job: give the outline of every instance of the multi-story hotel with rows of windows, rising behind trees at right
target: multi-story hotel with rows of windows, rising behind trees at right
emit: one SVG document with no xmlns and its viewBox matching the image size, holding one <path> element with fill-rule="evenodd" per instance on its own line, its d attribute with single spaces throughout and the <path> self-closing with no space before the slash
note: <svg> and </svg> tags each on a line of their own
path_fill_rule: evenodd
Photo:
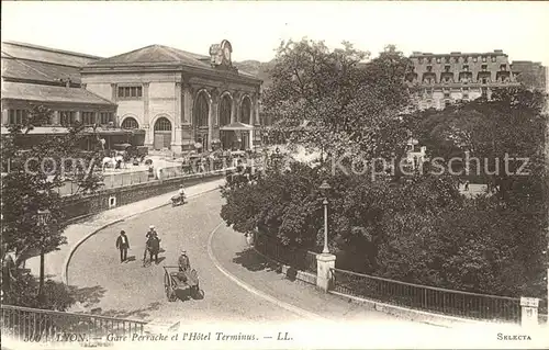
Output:
<svg viewBox="0 0 549 350">
<path fill-rule="evenodd" d="M 459 100 L 490 98 L 491 90 L 518 86 L 508 57 L 493 53 L 430 54 L 414 52 L 406 82 L 416 88 L 414 99 L 421 110 L 445 106 Z"/>
</svg>

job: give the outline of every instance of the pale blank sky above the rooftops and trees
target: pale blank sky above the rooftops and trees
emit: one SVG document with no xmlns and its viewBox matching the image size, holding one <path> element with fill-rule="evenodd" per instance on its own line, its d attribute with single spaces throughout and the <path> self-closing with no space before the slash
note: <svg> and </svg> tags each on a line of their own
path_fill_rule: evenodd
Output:
<svg viewBox="0 0 549 350">
<path fill-rule="evenodd" d="M 549 2 L 2 1 L 2 41 L 110 57 L 160 44 L 209 55 L 228 39 L 233 60 L 274 57 L 282 39 L 373 55 L 388 44 L 446 54 L 503 49 L 549 66 Z"/>
</svg>

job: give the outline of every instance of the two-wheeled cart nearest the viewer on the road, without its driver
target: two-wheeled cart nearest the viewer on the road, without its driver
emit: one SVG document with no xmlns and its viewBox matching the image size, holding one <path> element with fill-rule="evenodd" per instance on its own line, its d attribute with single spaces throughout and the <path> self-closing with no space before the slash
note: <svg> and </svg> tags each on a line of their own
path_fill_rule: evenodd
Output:
<svg viewBox="0 0 549 350">
<path fill-rule="evenodd" d="M 169 302 L 178 300 L 178 292 L 186 293 L 192 298 L 200 297 L 197 270 L 192 269 L 181 272 L 179 271 L 179 267 L 164 267 L 164 290 Z"/>
</svg>

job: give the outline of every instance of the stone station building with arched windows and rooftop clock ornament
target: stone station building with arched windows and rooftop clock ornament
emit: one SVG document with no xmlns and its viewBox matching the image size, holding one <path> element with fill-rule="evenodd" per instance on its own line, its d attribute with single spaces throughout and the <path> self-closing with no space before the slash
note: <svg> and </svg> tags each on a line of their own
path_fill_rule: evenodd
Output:
<svg viewBox="0 0 549 350">
<path fill-rule="evenodd" d="M 229 42 L 209 55 L 150 45 L 87 63 L 87 91 L 117 105 L 122 128 L 143 129 L 153 149 L 249 149 L 260 143 L 261 80 L 232 63 Z"/>
</svg>

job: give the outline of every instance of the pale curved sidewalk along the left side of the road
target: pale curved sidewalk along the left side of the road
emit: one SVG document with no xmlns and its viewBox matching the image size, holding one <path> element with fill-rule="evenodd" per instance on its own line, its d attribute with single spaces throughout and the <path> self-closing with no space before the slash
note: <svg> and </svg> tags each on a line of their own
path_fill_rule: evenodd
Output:
<svg viewBox="0 0 549 350">
<path fill-rule="evenodd" d="M 225 179 L 209 181 L 188 187 L 186 189 L 187 197 L 192 197 L 201 193 L 213 191 L 225 183 Z M 170 203 L 171 196 L 178 192 L 170 192 L 148 200 L 143 200 L 132 204 L 115 207 L 110 211 L 90 216 L 82 222 L 69 225 L 64 236 L 67 237 L 67 244 L 59 247 L 59 250 L 52 251 L 45 256 L 44 271 L 46 278 L 58 282 L 66 282 L 66 267 L 74 250 L 96 232 L 115 224 L 117 222 L 138 215 Z M 40 256 L 26 260 L 25 268 L 31 270 L 34 275 L 40 275 Z"/>
</svg>

